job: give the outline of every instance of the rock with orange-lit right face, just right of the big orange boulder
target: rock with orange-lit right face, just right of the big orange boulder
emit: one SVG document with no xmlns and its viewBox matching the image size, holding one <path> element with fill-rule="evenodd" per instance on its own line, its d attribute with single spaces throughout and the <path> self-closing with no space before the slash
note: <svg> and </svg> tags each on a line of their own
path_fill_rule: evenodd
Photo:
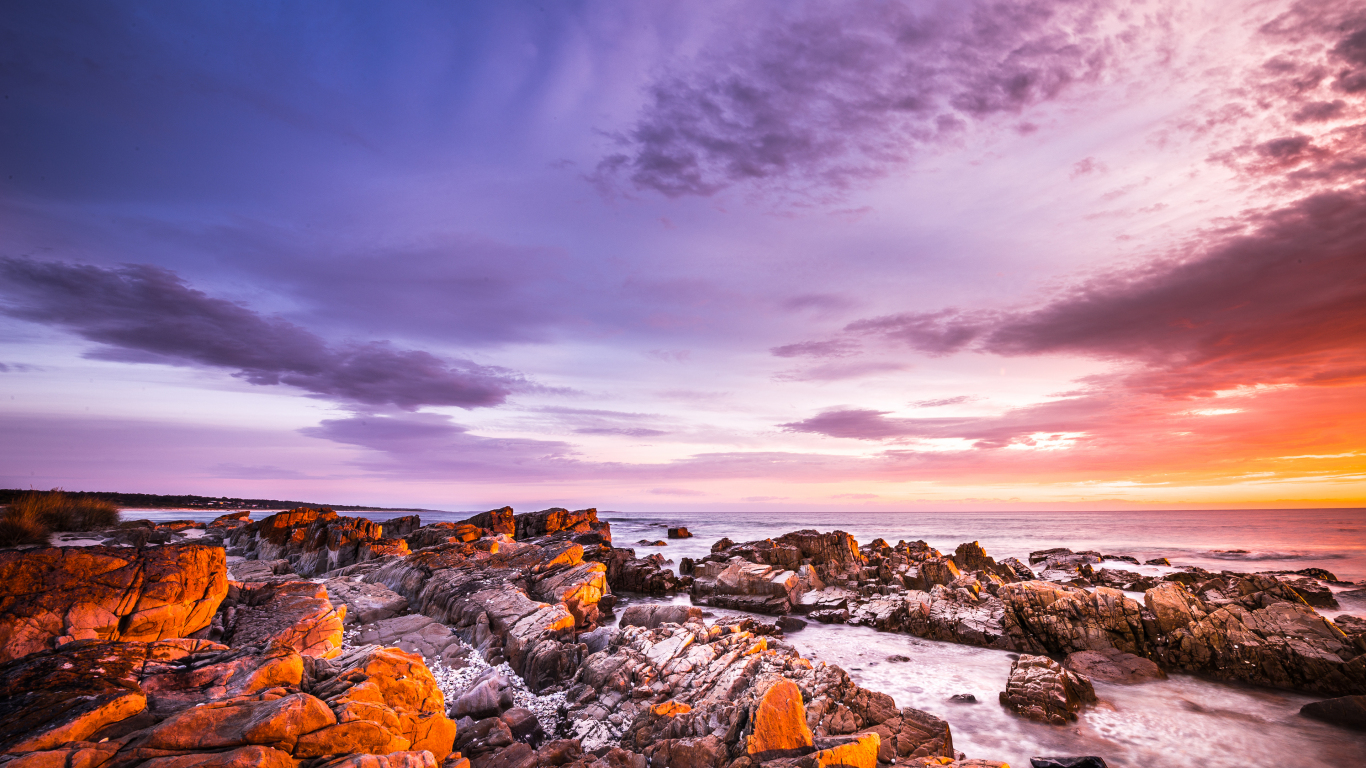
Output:
<svg viewBox="0 0 1366 768">
<path fill-rule="evenodd" d="M 342 652 L 346 605 L 333 607 L 321 584 L 292 581 L 232 592 L 224 620 L 227 645 L 277 642 L 302 656 L 324 659 Z"/>
</svg>

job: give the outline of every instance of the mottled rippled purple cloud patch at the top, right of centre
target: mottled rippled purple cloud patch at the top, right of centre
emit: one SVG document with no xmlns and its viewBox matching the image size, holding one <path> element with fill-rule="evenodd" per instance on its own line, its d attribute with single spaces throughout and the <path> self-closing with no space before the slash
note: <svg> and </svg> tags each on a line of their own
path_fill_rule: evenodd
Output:
<svg viewBox="0 0 1366 768">
<path fill-rule="evenodd" d="M 624 176 L 672 197 L 753 180 L 839 189 L 881 176 L 970 120 L 1018 115 L 1109 72 L 1147 23 L 1112 8 L 799 4 L 746 19 L 735 25 L 743 41 L 716 44 L 656 79 L 598 179 Z"/>
</svg>

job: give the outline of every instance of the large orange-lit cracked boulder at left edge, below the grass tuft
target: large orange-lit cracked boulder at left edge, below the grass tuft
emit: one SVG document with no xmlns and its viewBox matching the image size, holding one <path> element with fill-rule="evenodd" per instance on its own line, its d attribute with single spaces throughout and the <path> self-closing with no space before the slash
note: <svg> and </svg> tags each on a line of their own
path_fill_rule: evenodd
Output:
<svg viewBox="0 0 1366 768">
<path fill-rule="evenodd" d="M 223 549 L 201 544 L 3 551 L 0 582 L 0 661 L 74 640 L 186 637 L 228 592 Z"/>
</svg>

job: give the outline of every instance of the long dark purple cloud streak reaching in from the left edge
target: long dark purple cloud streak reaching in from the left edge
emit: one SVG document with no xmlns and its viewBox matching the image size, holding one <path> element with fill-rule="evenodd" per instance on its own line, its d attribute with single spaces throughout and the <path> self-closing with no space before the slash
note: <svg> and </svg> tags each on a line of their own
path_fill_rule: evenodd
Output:
<svg viewBox="0 0 1366 768">
<path fill-rule="evenodd" d="M 150 265 L 101 268 L 0 258 L 0 312 L 101 344 L 89 357 L 201 365 L 251 384 L 287 384 L 359 406 L 496 406 L 527 383 L 388 342 L 332 346 L 280 317 L 191 288 Z"/>
</svg>

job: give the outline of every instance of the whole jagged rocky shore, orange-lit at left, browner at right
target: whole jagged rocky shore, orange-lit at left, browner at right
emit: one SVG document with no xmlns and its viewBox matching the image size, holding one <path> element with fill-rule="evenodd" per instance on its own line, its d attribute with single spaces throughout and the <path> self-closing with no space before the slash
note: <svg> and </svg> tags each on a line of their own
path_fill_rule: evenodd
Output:
<svg viewBox="0 0 1366 768">
<path fill-rule="evenodd" d="M 1045 723 L 1091 705 L 1091 679 L 1168 671 L 1330 697 L 1306 715 L 1348 727 L 1366 694 L 1366 620 L 1315 611 L 1328 573 L 1156 578 L 1098 552 L 814 530 L 721 540 L 675 573 L 561 508 L 81 536 L 0 551 L 10 768 L 1004 765 L 802 657 L 784 631 L 807 620 L 1016 652 L 1000 705 Z M 617 622 L 631 593 L 694 605 Z"/>
</svg>

